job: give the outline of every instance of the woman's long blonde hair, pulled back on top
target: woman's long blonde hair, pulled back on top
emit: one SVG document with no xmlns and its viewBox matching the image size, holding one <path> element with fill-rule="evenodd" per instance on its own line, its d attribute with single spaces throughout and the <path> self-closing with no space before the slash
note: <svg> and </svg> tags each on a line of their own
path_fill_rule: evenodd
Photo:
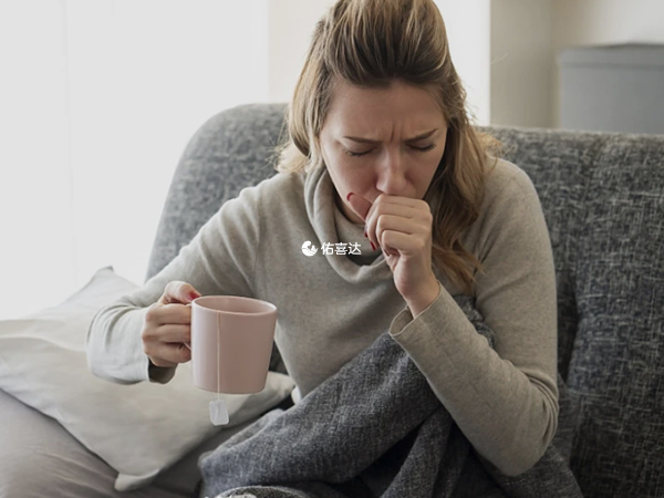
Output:
<svg viewBox="0 0 664 498">
<path fill-rule="evenodd" d="M 287 141 L 277 147 L 280 173 L 325 167 L 320 133 L 335 79 L 361 87 L 394 81 L 424 89 L 447 122 L 443 158 L 424 196 L 432 209 L 432 264 L 465 294 L 471 268 L 484 264 L 459 238 L 478 217 L 486 165 L 501 144 L 470 125 L 466 92 L 449 55 L 443 17 L 433 0 L 339 0 L 317 23 L 307 60 L 286 108 Z"/>
</svg>

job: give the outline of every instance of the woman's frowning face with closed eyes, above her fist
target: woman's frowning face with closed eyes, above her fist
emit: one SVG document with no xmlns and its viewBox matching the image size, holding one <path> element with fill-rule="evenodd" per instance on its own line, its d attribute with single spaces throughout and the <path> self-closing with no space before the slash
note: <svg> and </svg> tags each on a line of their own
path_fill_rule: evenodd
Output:
<svg viewBox="0 0 664 498">
<path fill-rule="evenodd" d="M 339 207 L 362 224 L 349 193 L 423 199 L 443 158 L 447 124 L 435 100 L 402 82 L 360 89 L 338 80 L 321 131 L 323 160 Z"/>
</svg>

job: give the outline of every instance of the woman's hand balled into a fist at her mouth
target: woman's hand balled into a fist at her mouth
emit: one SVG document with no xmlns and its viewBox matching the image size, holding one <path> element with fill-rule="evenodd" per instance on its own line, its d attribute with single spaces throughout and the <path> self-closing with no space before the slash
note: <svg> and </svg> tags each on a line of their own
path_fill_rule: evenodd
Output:
<svg viewBox="0 0 664 498">
<path fill-rule="evenodd" d="M 435 299 L 439 288 L 432 269 L 429 205 L 425 200 L 386 194 L 381 194 L 373 204 L 352 193 L 347 200 L 364 220 L 369 239 L 383 249 L 396 290 L 403 298 L 407 302 L 432 295 Z"/>
</svg>

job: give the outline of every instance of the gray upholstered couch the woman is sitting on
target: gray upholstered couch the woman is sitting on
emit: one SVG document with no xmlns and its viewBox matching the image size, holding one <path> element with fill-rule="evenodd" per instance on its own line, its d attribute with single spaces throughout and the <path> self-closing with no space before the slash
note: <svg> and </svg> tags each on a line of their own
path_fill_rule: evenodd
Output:
<svg viewBox="0 0 664 498">
<path fill-rule="evenodd" d="M 214 115 L 196 132 L 175 170 L 146 279 L 224 201 L 276 174 L 272 147 L 286 133 L 284 108 L 238 106 Z M 549 227 L 558 284 L 558 365 L 580 417 L 570 465 L 584 496 L 664 497 L 664 136 L 483 131 L 502 141 L 506 158 L 530 176 Z M 287 373 L 276 349 L 270 370 Z M 70 437 L 53 421 L 2 394 L 0 426 L 6 430 L 14 424 L 30 433 L 33 424 L 45 446 L 50 434 Z M 65 443 L 91 458 L 75 442 Z M 176 496 L 154 487 L 177 483 L 184 468 L 190 475 L 196 456 L 214 445 L 206 442 L 155 485 L 124 496 Z M 72 465 L 81 455 L 72 457 Z M 95 461 L 100 479 L 107 479 L 112 471 L 103 465 Z M 50 496 L 59 496 L 58 476 L 50 478 Z"/>
</svg>

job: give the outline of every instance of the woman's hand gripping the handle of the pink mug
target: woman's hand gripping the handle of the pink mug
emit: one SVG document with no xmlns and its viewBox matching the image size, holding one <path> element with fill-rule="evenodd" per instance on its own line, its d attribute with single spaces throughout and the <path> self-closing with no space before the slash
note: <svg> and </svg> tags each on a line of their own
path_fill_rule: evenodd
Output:
<svg viewBox="0 0 664 498">
<path fill-rule="evenodd" d="M 176 366 L 191 360 L 191 301 L 200 293 L 187 282 L 168 282 L 145 313 L 143 351 L 155 366 Z"/>
</svg>

